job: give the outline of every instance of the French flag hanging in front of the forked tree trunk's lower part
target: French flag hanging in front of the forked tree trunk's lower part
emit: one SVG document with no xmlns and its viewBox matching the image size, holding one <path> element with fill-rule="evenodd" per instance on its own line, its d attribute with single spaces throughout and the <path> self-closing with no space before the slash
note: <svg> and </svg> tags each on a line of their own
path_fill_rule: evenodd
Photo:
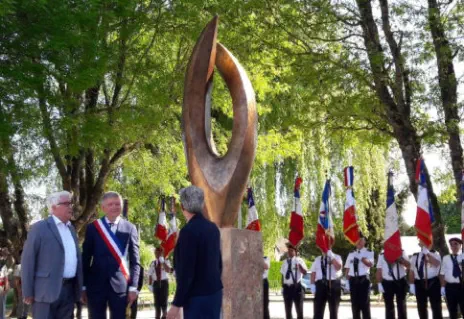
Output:
<svg viewBox="0 0 464 319">
<path fill-rule="evenodd" d="M 429 194 L 427 192 L 427 183 L 425 180 L 425 163 L 422 158 L 417 160 L 416 164 L 416 181 L 418 184 L 417 190 L 417 213 L 416 228 L 417 238 L 427 247 L 430 248 L 433 243 L 432 223 L 433 218 L 432 205 L 430 203 Z"/>
</svg>

